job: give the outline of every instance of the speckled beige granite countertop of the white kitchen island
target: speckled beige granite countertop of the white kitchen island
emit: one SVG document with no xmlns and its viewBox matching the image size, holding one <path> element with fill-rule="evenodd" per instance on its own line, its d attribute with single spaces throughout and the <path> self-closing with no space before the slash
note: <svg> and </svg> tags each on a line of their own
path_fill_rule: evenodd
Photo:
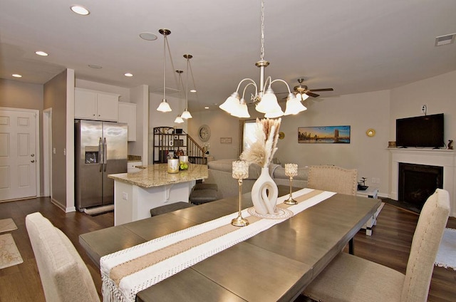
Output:
<svg viewBox="0 0 456 302">
<path fill-rule="evenodd" d="M 135 184 L 138 187 L 159 187 L 165 184 L 177 184 L 179 182 L 190 182 L 208 177 L 207 165 L 190 164 L 188 170 L 179 171 L 175 174 L 167 172 L 167 164 L 148 165 L 139 172 L 110 174 L 109 178 Z"/>
</svg>

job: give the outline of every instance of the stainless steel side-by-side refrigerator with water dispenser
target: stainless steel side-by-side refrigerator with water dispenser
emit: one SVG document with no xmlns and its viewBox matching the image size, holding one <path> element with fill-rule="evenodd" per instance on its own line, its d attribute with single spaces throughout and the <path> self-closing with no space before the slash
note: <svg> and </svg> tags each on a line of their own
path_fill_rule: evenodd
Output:
<svg viewBox="0 0 456 302">
<path fill-rule="evenodd" d="M 110 174 L 127 172 L 127 124 L 75 120 L 76 209 L 114 203 Z"/>
</svg>

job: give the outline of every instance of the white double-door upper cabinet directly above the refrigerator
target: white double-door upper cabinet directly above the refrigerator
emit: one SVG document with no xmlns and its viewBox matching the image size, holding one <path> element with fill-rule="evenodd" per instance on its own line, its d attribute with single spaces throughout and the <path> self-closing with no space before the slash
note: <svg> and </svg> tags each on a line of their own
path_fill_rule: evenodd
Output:
<svg viewBox="0 0 456 302">
<path fill-rule="evenodd" d="M 115 93 L 74 88 L 74 118 L 117 122 L 119 96 Z"/>
</svg>

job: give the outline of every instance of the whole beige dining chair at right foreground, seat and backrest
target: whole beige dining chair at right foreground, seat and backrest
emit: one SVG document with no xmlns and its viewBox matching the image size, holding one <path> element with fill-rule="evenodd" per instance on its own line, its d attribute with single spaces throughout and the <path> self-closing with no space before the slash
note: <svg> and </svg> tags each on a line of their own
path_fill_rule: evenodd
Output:
<svg viewBox="0 0 456 302">
<path fill-rule="evenodd" d="M 306 287 L 304 295 L 316 301 L 427 301 L 449 213 L 448 192 L 437 189 L 421 210 L 405 275 L 342 252 Z"/>
</svg>

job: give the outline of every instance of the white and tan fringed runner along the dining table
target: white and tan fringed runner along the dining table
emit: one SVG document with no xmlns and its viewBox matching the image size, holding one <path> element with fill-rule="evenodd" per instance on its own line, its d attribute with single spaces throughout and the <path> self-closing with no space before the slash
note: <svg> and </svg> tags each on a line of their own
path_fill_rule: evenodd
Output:
<svg viewBox="0 0 456 302">
<path fill-rule="evenodd" d="M 333 194 L 336 193 L 301 189 L 293 193 L 294 199 L 299 201 L 299 197 L 303 199 L 304 195 L 309 195 L 309 198 L 299 204 L 289 206 L 288 209 L 294 214 L 298 214 L 328 199 Z M 288 197 L 289 194 L 279 197 L 277 204 L 281 204 Z M 136 293 L 139 291 L 286 220 L 251 217 L 256 221 L 247 227 L 234 227 L 234 230 L 228 232 L 219 231 L 232 227 L 231 221 L 237 217 L 237 214 L 237 212 L 229 214 L 101 257 L 103 301 L 135 301 Z M 247 209 L 242 211 L 242 217 L 250 217 Z M 221 232 L 221 235 L 217 234 L 217 231 Z M 211 239 L 203 240 L 196 246 L 188 247 L 188 244 L 185 243 L 201 241 L 202 237 L 207 237 L 207 234 L 212 236 L 209 236 Z M 195 239 L 198 237 L 198 240 Z M 170 256 L 157 256 L 157 254 L 163 254 L 164 250 L 165 253 L 170 253 Z M 152 264 L 147 264 L 147 261 L 151 261 L 150 259 L 153 260 Z M 125 270 L 131 271 L 125 273 Z"/>
</svg>

